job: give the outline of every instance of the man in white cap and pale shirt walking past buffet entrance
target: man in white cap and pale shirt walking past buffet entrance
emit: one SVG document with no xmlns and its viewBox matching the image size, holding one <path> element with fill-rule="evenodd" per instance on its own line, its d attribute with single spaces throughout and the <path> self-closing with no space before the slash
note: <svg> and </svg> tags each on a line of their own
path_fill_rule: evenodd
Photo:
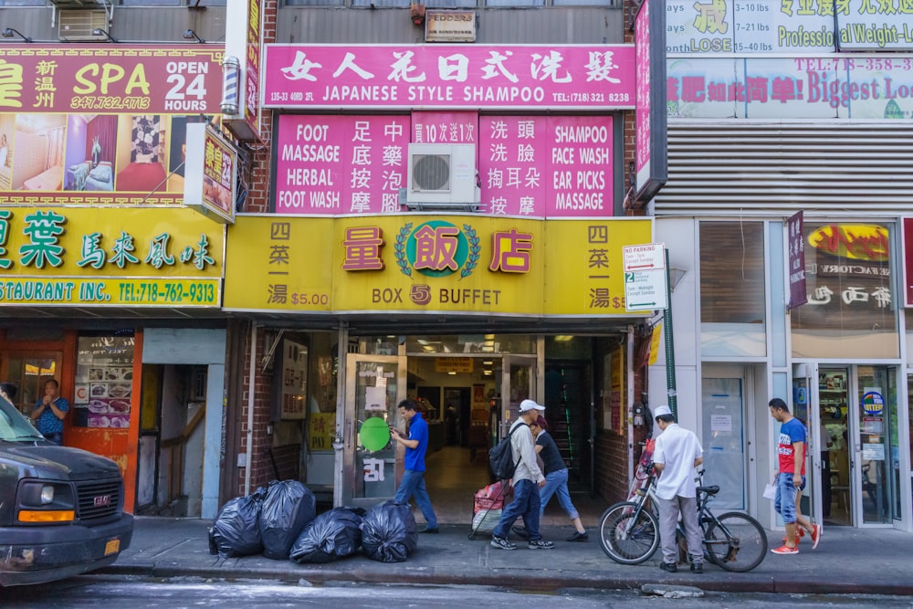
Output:
<svg viewBox="0 0 913 609">
<path fill-rule="evenodd" d="M 545 406 L 532 400 L 519 403 L 519 418 L 510 425 L 510 448 L 517 468 L 514 470 L 510 485 L 514 497 L 501 512 L 498 526 L 491 531 L 491 546 L 501 550 L 516 550 L 517 544 L 508 540 L 508 531 L 513 523 L 522 516 L 529 533 L 530 550 L 551 550 L 555 544 L 545 541 L 539 532 L 539 488 L 545 486 L 545 477 L 536 462 L 536 450 L 532 440 L 530 425 L 536 422 Z"/>
</svg>

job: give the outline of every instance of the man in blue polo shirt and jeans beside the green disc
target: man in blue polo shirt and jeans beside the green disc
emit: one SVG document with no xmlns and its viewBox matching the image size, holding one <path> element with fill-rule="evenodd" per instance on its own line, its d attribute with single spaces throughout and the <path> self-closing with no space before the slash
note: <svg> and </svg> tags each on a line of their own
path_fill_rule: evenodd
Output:
<svg viewBox="0 0 913 609">
<path fill-rule="evenodd" d="M 405 471 L 403 472 L 403 481 L 400 482 L 399 488 L 396 489 L 395 501 L 397 503 L 408 503 L 409 499 L 415 496 L 415 503 L 418 509 L 422 510 L 425 516 L 425 529 L 420 530 L 422 533 L 436 533 L 437 516 L 435 509 L 431 507 L 431 498 L 428 497 L 428 490 L 425 488 L 425 452 L 428 450 L 428 424 L 422 418 L 419 405 L 415 400 L 403 400 L 397 406 L 400 416 L 406 422 L 409 430 L 409 436 L 404 437 L 402 432 L 395 427 L 391 427 L 390 435 L 394 441 L 405 446 Z"/>
</svg>

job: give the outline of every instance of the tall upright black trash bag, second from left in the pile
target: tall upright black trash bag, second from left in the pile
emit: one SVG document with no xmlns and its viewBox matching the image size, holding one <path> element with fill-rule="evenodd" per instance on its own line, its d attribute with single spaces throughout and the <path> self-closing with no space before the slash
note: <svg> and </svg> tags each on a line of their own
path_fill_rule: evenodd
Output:
<svg viewBox="0 0 913 609">
<path fill-rule="evenodd" d="M 263 555 L 277 561 L 289 558 L 291 545 L 317 515 L 317 498 L 298 480 L 273 480 L 260 509 Z"/>
</svg>

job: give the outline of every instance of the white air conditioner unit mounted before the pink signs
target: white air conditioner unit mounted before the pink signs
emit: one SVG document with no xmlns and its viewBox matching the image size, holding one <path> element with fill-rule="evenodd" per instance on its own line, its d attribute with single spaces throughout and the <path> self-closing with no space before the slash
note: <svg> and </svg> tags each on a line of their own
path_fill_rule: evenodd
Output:
<svg viewBox="0 0 913 609">
<path fill-rule="evenodd" d="M 474 204 L 476 146 L 471 143 L 409 144 L 406 203 Z"/>
</svg>

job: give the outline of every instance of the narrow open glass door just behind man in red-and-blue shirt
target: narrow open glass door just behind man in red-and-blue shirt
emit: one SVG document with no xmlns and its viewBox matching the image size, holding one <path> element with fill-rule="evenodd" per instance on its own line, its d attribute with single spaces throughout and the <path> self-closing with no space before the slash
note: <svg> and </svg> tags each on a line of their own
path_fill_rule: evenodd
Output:
<svg viewBox="0 0 913 609">
<path fill-rule="evenodd" d="M 814 522 L 822 522 L 828 517 L 824 505 L 830 505 L 829 467 L 823 464 L 824 456 L 821 446 L 821 413 L 825 402 L 830 399 L 823 393 L 819 383 L 818 365 L 815 363 L 797 363 L 792 366 L 792 415 L 805 425 L 808 434 L 805 444 L 805 490 L 800 506 L 802 513 Z"/>
</svg>

